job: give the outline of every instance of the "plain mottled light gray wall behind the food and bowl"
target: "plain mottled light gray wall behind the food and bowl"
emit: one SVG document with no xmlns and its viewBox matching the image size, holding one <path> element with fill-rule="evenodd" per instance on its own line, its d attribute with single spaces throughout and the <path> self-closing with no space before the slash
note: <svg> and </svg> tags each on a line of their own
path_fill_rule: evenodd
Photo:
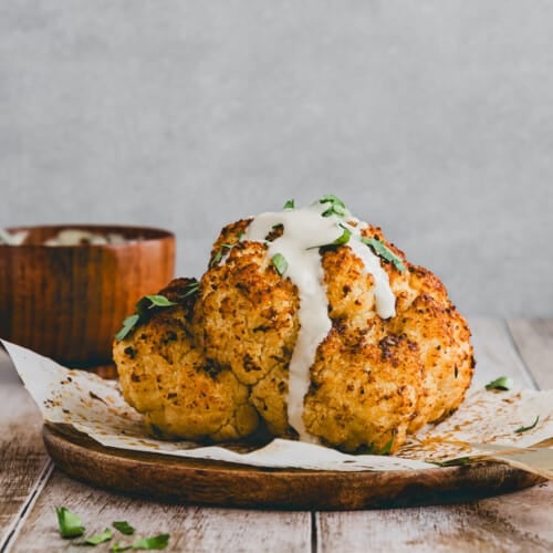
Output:
<svg viewBox="0 0 553 553">
<path fill-rule="evenodd" d="M 128 222 L 199 275 L 335 192 L 468 314 L 553 315 L 553 2 L 0 0 L 0 223 Z"/>
</svg>

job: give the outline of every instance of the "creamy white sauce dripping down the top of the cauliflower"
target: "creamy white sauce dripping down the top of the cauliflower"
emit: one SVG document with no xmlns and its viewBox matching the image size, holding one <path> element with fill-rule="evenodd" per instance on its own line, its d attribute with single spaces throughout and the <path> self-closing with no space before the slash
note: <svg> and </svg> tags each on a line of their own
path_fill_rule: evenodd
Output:
<svg viewBox="0 0 553 553">
<path fill-rule="evenodd" d="M 285 258 L 288 268 L 284 276 L 296 285 L 300 295 L 300 332 L 289 367 L 288 419 L 302 441 L 312 442 L 317 439 L 305 429 L 303 403 L 309 392 L 310 369 L 316 349 L 332 328 L 319 247 L 331 244 L 343 234 L 344 229 L 338 223 L 346 225 L 352 231 L 346 246 L 375 279 L 376 312 L 383 319 L 395 314 L 395 295 L 389 286 L 388 274 L 380 267 L 379 258 L 359 241 L 359 226 L 349 226 L 334 215 L 323 217 L 327 208 L 325 204 L 315 202 L 307 208 L 261 213 L 253 218 L 242 237 L 246 241 L 265 242 L 265 237 L 274 226 L 282 225 L 284 228 L 281 237 L 268 243 L 268 254 L 270 259 L 276 253 Z M 346 217 L 346 220 L 355 219 Z"/>
</svg>

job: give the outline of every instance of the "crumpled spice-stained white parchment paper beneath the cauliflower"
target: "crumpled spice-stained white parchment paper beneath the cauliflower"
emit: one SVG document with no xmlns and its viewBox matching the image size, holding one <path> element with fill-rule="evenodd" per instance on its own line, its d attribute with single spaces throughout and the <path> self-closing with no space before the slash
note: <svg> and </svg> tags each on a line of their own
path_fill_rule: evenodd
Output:
<svg viewBox="0 0 553 553">
<path fill-rule="evenodd" d="M 206 447 L 149 437 L 116 382 L 62 367 L 7 341 L 0 343 L 45 422 L 72 425 L 106 447 L 264 468 L 344 471 L 435 469 L 490 459 L 553 478 L 553 390 L 471 390 L 451 417 L 411 436 L 394 456 L 346 455 L 285 439 L 257 449 L 237 444 Z"/>
</svg>

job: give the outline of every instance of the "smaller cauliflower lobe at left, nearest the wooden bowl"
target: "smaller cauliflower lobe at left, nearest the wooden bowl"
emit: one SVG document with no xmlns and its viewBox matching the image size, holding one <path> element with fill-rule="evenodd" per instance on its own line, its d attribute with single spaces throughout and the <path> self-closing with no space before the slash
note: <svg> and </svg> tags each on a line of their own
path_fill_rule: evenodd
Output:
<svg viewBox="0 0 553 553">
<path fill-rule="evenodd" d="M 176 302 L 153 310 L 132 337 L 115 343 L 114 357 L 125 400 L 153 435 L 215 441 L 250 435 L 259 417 L 234 374 L 207 362 L 194 345 L 191 281 L 178 279 L 160 291 Z"/>
</svg>

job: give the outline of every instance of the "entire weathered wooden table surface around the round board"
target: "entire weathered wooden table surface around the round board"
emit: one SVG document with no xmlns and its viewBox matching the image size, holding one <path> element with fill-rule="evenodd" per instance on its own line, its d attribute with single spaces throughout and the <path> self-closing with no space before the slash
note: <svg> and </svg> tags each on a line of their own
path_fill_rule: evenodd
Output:
<svg viewBox="0 0 553 553">
<path fill-rule="evenodd" d="M 508 375 L 553 387 L 553 321 L 469 319 L 476 385 Z M 553 551 L 553 484 L 460 504 L 351 512 L 282 512 L 169 505 L 90 488 L 55 469 L 42 420 L 0 353 L 0 551 L 76 551 L 60 538 L 56 507 L 87 535 L 127 520 L 140 535 L 170 534 L 166 551 Z M 103 544 L 94 551 L 108 551 Z"/>
</svg>

